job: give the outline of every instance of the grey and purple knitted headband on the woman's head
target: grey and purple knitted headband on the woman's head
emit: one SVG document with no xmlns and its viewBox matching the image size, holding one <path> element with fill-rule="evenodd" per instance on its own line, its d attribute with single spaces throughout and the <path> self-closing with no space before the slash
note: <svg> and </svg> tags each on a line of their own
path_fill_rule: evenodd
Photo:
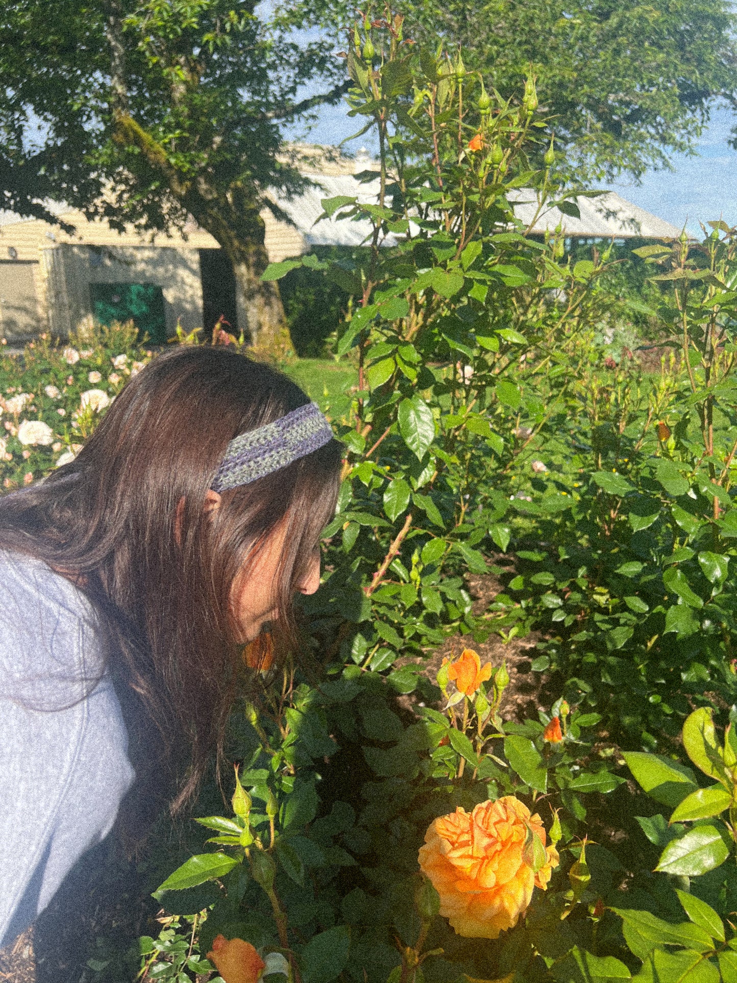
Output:
<svg viewBox="0 0 737 983">
<path fill-rule="evenodd" d="M 250 485 L 257 478 L 286 468 L 323 447 L 333 435 L 315 403 L 300 406 L 271 424 L 234 437 L 210 488 L 213 492 L 225 492 L 239 485 Z"/>
</svg>

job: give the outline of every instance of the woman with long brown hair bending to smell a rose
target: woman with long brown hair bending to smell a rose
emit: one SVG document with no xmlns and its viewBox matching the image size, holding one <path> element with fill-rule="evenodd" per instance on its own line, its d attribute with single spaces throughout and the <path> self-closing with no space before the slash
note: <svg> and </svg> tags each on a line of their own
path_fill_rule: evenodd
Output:
<svg viewBox="0 0 737 983">
<path fill-rule="evenodd" d="M 241 647 L 293 637 L 317 589 L 340 446 L 285 376 L 180 348 L 0 499 L 0 946 L 119 812 L 136 838 L 172 787 L 174 811 L 191 798 Z"/>
</svg>

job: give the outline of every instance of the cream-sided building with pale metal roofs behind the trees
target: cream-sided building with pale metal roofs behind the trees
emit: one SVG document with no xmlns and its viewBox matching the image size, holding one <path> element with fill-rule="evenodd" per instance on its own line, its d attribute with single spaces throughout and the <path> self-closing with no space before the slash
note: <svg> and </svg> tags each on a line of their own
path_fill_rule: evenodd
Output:
<svg viewBox="0 0 737 983">
<path fill-rule="evenodd" d="M 368 220 L 317 221 L 321 200 L 337 195 L 375 202 L 378 181 L 360 182 L 370 170 L 366 151 L 355 159 L 330 156 L 315 147 L 301 170 L 313 184 L 292 201 L 275 197 L 292 224 L 265 210 L 269 260 L 299 256 L 314 246 L 359 246 L 370 235 Z M 524 189 L 515 193 L 515 212 L 531 223 L 537 202 Z M 614 193 L 578 199 L 580 218 L 551 208 L 530 232 L 559 223 L 577 239 L 676 238 L 680 230 Z M 75 226 L 74 234 L 39 219 L 0 212 L 0 334 L 22 343 L 41 330 L 66 337 L 90 315 L 103 323 L 133 318 L 153 342 L 164 342 L 177 323 L 185 331 L 211 325 L 223 316 L 236 330 L 247 329 L 233 270 L 215 240 L 194 222 L 169 236 L 120 233 L 104 221 L 52 202 L 50 209 Z"/>
</svg>

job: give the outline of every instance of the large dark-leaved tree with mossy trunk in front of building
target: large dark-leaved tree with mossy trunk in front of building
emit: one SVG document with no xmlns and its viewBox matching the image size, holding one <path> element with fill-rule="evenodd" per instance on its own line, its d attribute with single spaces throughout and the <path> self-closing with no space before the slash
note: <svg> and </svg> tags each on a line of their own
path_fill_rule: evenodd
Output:
<svg viewBox="0 0 737 983">
<path fill-rule="evenodd" d="M 255 0 L 2 0 L 6 206 L 44 196 L 117 227 L 192 215 L 233 261 L 257 335 L 283 323 L 261 285 L 269 188 L 303 186 L 280 126 L 342 93 L 326 40 L 290 38 Z M 298 95 L 306 83 L 318 94 Z"/>
</svg>

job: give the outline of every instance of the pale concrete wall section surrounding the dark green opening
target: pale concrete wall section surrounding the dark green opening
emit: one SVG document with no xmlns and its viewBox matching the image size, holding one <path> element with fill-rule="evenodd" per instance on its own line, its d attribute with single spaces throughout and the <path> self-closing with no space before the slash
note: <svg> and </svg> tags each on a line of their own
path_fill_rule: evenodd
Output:
<svg viewBox="0 0 737 983">
<path fill-rule="evenodd" d="M 152 283 L 162 288 L 167 334 L 202 325 L 197 249 L 160 246 L 93 248 L 60 244 L 41 250 L 45 309 L 53 334 L 66 337 L 92 313 L 90 283 Z"/>
</svg>

